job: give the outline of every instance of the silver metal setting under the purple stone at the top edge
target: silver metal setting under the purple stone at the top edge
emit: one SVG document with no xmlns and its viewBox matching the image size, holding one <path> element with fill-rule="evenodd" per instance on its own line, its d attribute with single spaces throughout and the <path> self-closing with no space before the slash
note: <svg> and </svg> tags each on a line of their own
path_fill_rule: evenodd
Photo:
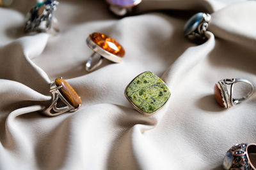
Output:
<svg viewBox="0 0 256 170">
<path fill-rule="evenodd" d="M 106 1 L 109 4 L 110 11 L 112 11 L 115 15 L 117 15 L 119 17 L 123 17 L 123 16 L 127 15 L 127 13 L 131 13 L 132 8 L 134 8 L 134 6 L 137 6 L 138 4 L 140 4 L 142 0 L 136 0 L 136 1 L 134 1 L 134 3 L 132 5 L 129 5 L 129 6 L 118 6 L 116 4 L 111 3 L 111 1 L 109 1 L 109 0 L 106 0 Z M 125 1 L 125 0 L 123 0 L 123 1 Z"/>
</svg>

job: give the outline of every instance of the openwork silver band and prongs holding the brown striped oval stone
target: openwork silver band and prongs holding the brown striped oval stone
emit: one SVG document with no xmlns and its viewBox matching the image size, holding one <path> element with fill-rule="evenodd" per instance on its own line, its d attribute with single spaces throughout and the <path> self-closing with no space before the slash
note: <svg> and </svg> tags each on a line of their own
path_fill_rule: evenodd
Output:
<svg viewBox="0 0 256 170">
<path fill-rule="evenodd" d="M 61 115 L 63 113 L 66 113 L 67 111 L 74 112 L 74 111 L 77 111 L 81 107 L 81 104 L 79 104 L 79 106 L 77 108 L 74 108 L 70 103 L 68 103 L 68 101 L 65 99 L 65 97 L 63 97 L 61 95 L 61 93 L 59 91 L 59 89 L 61 87 L 62 86 L 57 87 L 55 84 L 55 81 L 52 81 L 50 83 L 50 92 L 52 93 L 52 103 L 48 108 L 46 108 L 45 110 L 42 111 L 42 113 L 44 113 L 45 115 L 47 115 L 49 117 L 55 117 L 55 116 Z M 59 99 L 66 106 L 58 108 L 57 104 L 58 104 Z"/>
</svg>

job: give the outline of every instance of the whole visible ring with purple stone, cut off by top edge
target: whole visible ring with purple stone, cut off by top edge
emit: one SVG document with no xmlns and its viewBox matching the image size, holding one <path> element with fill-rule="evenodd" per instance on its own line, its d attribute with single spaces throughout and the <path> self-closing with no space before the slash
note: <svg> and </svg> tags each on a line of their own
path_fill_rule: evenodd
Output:
<svg viewBox="0 0 256 170">
<path fill-rule="evenodd" d="M 132 12 L 132 8 L 141 3 L 141 0 L 106 0 L 109 10 L 115 15 L 123 17 Z"/>
</svg>

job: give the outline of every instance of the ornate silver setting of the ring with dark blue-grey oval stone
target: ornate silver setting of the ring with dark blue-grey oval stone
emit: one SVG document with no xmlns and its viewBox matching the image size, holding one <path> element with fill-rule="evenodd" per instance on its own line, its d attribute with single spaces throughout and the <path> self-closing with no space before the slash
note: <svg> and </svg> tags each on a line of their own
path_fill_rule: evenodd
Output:
<svg viewBox="0 0 256 170">
<path fill-rule="evenodd" d="M 198 14 L 198 13 L 197 13 Z M 197 15 L 195 14 L 195 15 Z M 193 17 L 195 16 L 193 15 Z M 191 17 L 191 18 L 193 18 Z M 188 20 L 189 22 L 189 20 Z M 188 23 L 187 22 L 187 23 Z M 211 22 L 211 15 L 209 13 L 202 13 L 202 18 L 197 22 L 197 24 L 193 25 L 188 32 L 184 32 L 185 36 L 188 39 L 205 39 L 205 32 L 209 27 L 209 23 Z M 186 27 L 186 25 L 185 25 Z"/>
</svg>

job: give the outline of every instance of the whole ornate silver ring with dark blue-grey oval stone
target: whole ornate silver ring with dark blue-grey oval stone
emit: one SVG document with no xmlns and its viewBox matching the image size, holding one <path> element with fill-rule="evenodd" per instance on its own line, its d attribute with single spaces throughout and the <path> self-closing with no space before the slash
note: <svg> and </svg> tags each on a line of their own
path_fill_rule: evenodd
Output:
<svg viewBox="0 0 256 170">
<path fill-rule="evenodd" d="M 211 15 L 209 13 L 196 13 L 184 26 L 184 35 L 189 39 L 205 39 L 205 31 L 209 26 Z"/>
</svg>

